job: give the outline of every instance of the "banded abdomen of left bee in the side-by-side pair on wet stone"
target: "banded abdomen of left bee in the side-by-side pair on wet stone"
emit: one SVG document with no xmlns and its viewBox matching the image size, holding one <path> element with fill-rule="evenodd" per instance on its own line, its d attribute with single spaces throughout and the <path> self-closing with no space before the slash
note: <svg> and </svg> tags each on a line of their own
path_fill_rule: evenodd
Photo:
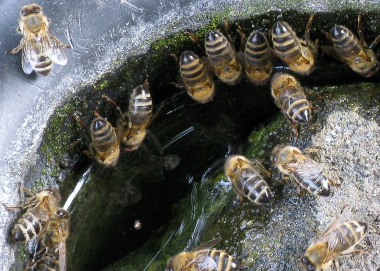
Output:
<svg viewBox="0 0 380 271">
<path fill-rule="evenodd" d="M 245 196 L 256 204 L 266 204 L 272 199 L 272 192 L 266 181 L 260 176 L 250 176 L 242 181 Z"/>
</svg>

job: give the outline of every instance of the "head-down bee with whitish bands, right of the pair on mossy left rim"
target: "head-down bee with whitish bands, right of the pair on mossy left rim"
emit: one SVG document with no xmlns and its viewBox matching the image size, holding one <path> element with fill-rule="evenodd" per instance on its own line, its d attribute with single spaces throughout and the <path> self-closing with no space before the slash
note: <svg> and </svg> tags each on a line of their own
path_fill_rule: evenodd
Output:
<svg viewBox="0 0 380 271">
<path fill-rule="evenodd" d="M 152 115 L 153 104 L 149 92 L 148 77 L 144 84 L 133 89 L 128 111 L 125 113 L 122 113 L 120 107 L 106 95 L 103 95 L 103 98 L 114 104 L 119 112 L 121 118 L 121 121 L 118 121 L 120 140 L 125 150 L 137 150 L 146 137 L 147 128 L 163 106 L 162 103 L 157 113 Z"/>
</svg>

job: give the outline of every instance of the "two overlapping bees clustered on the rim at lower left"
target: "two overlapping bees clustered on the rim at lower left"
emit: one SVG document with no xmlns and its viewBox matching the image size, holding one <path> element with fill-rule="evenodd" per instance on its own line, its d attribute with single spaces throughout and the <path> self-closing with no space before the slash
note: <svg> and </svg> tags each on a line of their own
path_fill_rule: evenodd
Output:
<svg viewBox="0 0 380 271">
<path fill-rule="evenodd" d="M 51 188 L 30 191 L 21 206 L 5 206 L 7 209 L 25 210 L 12 230 L 13 241 L 28 243 L 36 240 L 38 250 L 28 261 L 25 271 L 66 271 L 66 241 L 69 235 L 70 214 L 59 206 L 61 195 Z"/>
</svg>

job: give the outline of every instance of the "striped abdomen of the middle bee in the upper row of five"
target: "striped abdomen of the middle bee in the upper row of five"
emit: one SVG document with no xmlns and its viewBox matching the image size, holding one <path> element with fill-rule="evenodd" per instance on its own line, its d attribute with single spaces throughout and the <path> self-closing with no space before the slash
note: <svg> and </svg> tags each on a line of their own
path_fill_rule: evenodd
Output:
<svg viewBox="0 0 380 271">
<path fill-rule="evenodd" d="M 259 58 L 263 57 L 269 50 L 269 43 L 264 33 L 260 31 L 254 31 L 248 37 L 247 44 L 245 45 L 245 55 L 247 61 L 250 63 L 252 61 L 257 61 Z"/>
</svg>

